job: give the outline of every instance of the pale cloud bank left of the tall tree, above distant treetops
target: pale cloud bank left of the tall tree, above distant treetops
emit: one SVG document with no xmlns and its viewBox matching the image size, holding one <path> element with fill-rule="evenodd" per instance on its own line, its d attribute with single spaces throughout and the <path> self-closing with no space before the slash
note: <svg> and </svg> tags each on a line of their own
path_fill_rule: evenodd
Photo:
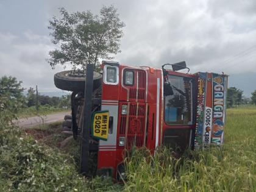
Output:
<svg viewBox="0 0 256 192">
<path fill-rule="evenodd" d="M 46 62 L 48 52 L 53 48 L 48 36 L 40 36 L 26 31 L 23 37 L 0 34 L 0 76 L 14 76 L 23 81 L 26 88 L 38 85 L 41 91 L 56 90 L 53 71 Z M 5 48 L 5 49 L 3 49 Z"/>
</svg>

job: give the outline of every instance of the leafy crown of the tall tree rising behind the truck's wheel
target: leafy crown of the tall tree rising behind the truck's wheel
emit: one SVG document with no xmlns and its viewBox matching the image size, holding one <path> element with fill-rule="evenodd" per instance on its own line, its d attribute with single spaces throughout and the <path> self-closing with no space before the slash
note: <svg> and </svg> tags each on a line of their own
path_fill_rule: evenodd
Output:
<svg viewBox="0 0 256 192">
<path fill-rule="evenodd" d="M 71 64 L 74 69 L 85 68 L 85 64 L 96 66 L 101 59 L 113 59 L 108 54 L 117 54 L 119 41 L 123 36 L 124 23 L 119 19 L 113 5 L 102 7 L 100 16 L 93 15 L 90 10 L 69 14 L 60 9 L 62 18 L 55 16 L 49 21 L 52 30 L 52 43 L 59 46 L 49 52 L 48 63 L 55 65 Z"/>
</svg>

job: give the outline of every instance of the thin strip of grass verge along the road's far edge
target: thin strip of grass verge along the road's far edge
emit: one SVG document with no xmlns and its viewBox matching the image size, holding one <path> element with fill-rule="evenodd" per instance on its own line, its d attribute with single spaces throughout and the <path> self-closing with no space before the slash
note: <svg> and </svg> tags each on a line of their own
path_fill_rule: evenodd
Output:
<svg viewBox="0 0 256 192">
<path fill-rule="evenodd" d="M 42 115 L 49 115 L 52 113 L 58 113 L 58 112 L 69 112 L 70 109 L 65 108 L 59 108 L 59 107 L 52 107 L 49 105 L 40 106 L 38 108 L 38 111 L 35 107 L 27 107 L 23 108 L 18 112 L 17 116 L 18 118 L 28 118 L 30 116 L 42 116 Z"/>
</svg>

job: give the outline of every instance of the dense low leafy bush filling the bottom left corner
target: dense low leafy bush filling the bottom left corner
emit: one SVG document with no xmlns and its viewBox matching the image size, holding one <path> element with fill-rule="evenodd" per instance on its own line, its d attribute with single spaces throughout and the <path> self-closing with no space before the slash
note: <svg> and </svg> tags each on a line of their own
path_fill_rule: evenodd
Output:
<svg viewBox="0 0 256 192">
<path fill-rule="evenodd" d="M 3 191 L 82 191 L 86 180 L 76 174 L 73 159 L 20 137 L 0 148 Z"/>
</svg>

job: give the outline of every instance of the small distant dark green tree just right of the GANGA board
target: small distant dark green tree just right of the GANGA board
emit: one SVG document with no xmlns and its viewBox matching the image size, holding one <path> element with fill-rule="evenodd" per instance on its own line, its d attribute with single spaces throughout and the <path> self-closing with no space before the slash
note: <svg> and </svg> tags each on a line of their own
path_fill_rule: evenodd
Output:
<svg viewBox="0 0 256 192">
<path fill-rule="evenodd" d="M 234 105 L 240 105 L 243 101 L 243 91 L 230 87 L 227 89 L 227 107 L 233 107 Z"/>
</svg>

